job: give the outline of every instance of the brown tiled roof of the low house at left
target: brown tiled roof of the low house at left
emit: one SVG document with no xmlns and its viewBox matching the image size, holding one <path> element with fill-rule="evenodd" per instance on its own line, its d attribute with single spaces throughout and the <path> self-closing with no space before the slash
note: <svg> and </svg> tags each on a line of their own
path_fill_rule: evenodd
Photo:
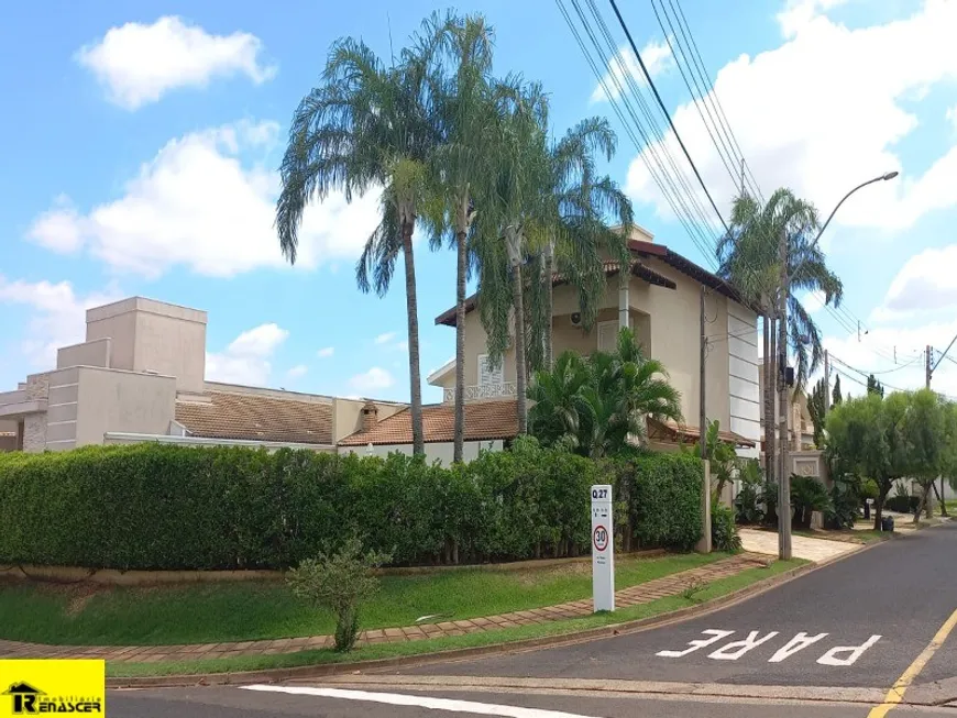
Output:
<svg viewBox="0 0 957 718">
<path fill-rule="evenodd" d="M 194 437 L 304 444 L 332 443 L 332 406 L 256 394 L 206 391 L 176 401 L 176 421 Z"/>
</svg>

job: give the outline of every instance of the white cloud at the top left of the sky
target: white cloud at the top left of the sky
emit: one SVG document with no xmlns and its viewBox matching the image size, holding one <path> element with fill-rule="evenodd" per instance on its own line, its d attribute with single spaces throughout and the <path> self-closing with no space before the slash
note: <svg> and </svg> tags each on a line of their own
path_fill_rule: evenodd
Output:
<svg viewBox="0 0 957 718">
<path fill-rule="evenodd" d="M 106 86 L 110 101 L 127 110 L 156 102 L 169 90 L 206 87 L 220 77 L 245 75 L 256 85 L 276 68 L 260 57 L 262 43 L 250 33 L 210 35 L 167 15 L 152 25 L 128 22 L 110 27 L 76 59 Z"/>
</svg>

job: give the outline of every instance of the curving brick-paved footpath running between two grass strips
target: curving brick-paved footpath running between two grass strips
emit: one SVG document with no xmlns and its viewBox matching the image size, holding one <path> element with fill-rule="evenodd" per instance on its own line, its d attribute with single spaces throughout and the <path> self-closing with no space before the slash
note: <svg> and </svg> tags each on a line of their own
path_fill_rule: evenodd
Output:
<svg viewBox="0 0 957 718">
<path fill-rule="evenodd" d="M 741 553 L 723 559 L 706 566 L 690 568 L 679 573 L 648 581 L 637 586 L 623 588 L 615 594 L 618 608 L 650 604 L 659 598 L 680 595 L 688 586 L 708 584 L 721 578 L 765 566 L 767 556 L 756 553 Z M 449 620 L 439 623 L 420 623 L 400 628 L 373 629 L 359 636 L 360 645 L 421 641 L 448 636 L 464 636 L 482 631 L 546 623 L 568 618 L 581 618 L 592 612 L 590 599 L 573 600 L 558 606 L 513 611 L 498 616 L 484 616 L 468 620 Z M 196 645 L 44 645 L 42 643 L 20 643 L 0 640 L 0 659 L 106 659 L 107 661 L 131 663 L 157 663 L 160 661 L 199 661 L 207 659 L 233 658 L 239 655 L 274 655 L 296 653 L 319 648 L 330 648 L 331 636 L 305 638 L 284 638 L 262 641 L 237 641 L 231 643 L 204 643 Z"/>
</svg>

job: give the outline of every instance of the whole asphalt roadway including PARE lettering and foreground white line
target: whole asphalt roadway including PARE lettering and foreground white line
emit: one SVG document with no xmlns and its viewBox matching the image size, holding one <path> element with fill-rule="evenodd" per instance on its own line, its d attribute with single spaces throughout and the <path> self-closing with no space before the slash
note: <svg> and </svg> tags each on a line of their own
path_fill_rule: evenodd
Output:
<svg viewBox="0 0 957 718">
<path fill-rule="evenodd" d="M 258 691 L 112 692 L 108 706 L 135 718 L 864 718 L 957 610 L 955 556 L 957 523 L 645 632 Z M 906 696 L 925 705 L 891 718 L 957 717 L 957 630 Z"/>
</svg>

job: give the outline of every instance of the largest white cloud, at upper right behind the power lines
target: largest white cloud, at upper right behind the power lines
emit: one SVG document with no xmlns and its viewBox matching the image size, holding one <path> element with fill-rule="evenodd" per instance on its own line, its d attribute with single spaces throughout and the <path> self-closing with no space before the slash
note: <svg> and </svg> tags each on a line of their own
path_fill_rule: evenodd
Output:
<svg viewBox="0 0 957 718">
<path fill-rule="evenodd" d="M 835 225 L 889 234 L 957 203 L 957 145 L 944 150 L 923 175 L 909 172 L 897 152 L 897 144 L 919 126 L 911 111 L 919 91 L 957 79 L 950 32 L 957 25 L 957 3 L 926 0 L 904 20 L 857 30 L 813 14 L 833 5 L 795 3 L 801 12 L 810 8 L 812 19 L 795 24 L 793 37 L 777 49 L 728 63 L 718 71 L 715 89 L 766 196 L 773 188 L 791 187 L 827 213 L 848 189 L 900 170 L 898 179 L 855 195 L 835 218 Z M 927 57 L 937 59 L 928 63 Z M 733 179 L 726 170 L 692 103 L 679 107 L 673 119 L 727 214 L 737 173 L 730 173 Z M 680 156 L 670 132 L 667 143 Z M 671 214 L 637 157 L 627 190 L 653 203 L 660 214 Z"/>
</svg>

